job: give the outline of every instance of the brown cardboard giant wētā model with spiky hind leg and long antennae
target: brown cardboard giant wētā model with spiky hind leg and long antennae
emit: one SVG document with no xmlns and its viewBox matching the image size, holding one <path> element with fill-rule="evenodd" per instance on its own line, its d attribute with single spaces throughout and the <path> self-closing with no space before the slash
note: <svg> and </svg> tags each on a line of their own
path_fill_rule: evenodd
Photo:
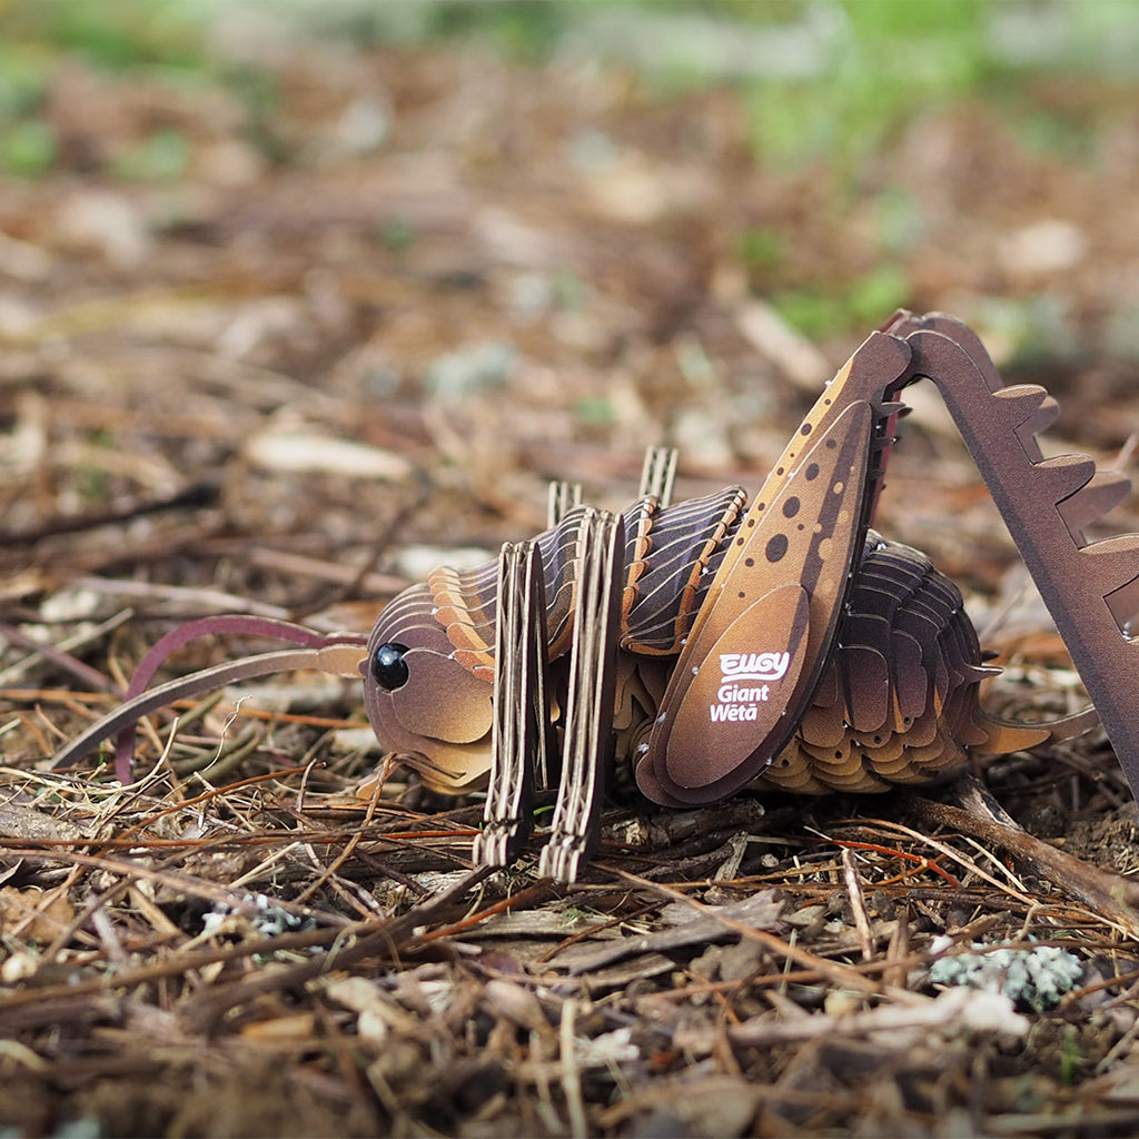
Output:
<svg viewBox="0 0 1139 1139">
<path fill-rule="evenodd" d="M 870 528 L 899 395 L 931 379 L 948 404 L 1047 603 L 1093 710 L 1005 723 L 978 703 L 994 670 L 957 588 L 918 550 Z M 1101 721 L 1139 792 L 1139 535 L 1083 531 L 1130 483 L 1079 454 L 1044 459 L 1058 407 L 1002 385 L 952 318 L 896 313 L 827 385 L 751 505 L 738 487 L 670 502 L 674 457 L 650 452 L 620 515 L 551 497 L 550 528 L 497 563 L 446 567 L 398 596 L 371 636 L 325 638 L 214 617 L 167 634 L 128 699 L 65 747 L 74 763 L 178 697 L 281 669 L 362 675 L 380 743 L 436 789 L 487 789 L 476 861 L 526 841 L 535 789 L 557 787 L 540 871 L 573 880 L 599 828 L 605 771 L 633 765 L 655 803 L 718 802 L 743 787 L 883 790 Z M 300 647 L 146 686 L 206 632 Z"/>
</svg>

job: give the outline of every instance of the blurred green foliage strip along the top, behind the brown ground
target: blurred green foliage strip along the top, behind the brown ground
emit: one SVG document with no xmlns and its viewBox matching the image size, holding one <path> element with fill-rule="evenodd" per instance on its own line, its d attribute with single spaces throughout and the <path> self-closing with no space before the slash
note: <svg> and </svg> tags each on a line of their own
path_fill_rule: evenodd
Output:
<svg viewBox="0 0 1139 1139">
<path fill-rule="evenodd" d="M 243 82 L 212 57 L 220 13 L 257 0 L 5 0 L 0 116 L 6 138 L 35 112 L 59 52 L 170 82 Z M 933 108 L 983 99 L 1033 145 L 1093 157 L 1095 117 L 1033 98 L 1038 82 L 1095 77 L 1130 89 L 1139 7 L 1067 0 L 295 0 L 274 16 L 361 48 L 477 40 L 530 63 L 596 56 L 629 64 L 662 97 L 715 84 L 746 100 L 756 153 L 773 163 L 857 163 Z M 17 149 L 19 149 L 17 147 Z M 46 148 L 50 150 L 50 147 Z M 42 169 L 30 163 L 24 172 Z"/>
</svg>

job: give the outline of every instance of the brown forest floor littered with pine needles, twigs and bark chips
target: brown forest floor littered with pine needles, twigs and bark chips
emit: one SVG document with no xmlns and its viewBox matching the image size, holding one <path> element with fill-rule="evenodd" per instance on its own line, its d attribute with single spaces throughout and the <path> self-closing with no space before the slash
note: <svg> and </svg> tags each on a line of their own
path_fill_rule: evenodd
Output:
<svg viewBox="0 0 1139 1139">
<path fill-rule="evenodd" d="M 1134 1134 L 1139 841 L 1100 731 L 874 797 L 629 797 L 573 887 L 536 847 L 473 870 L 478 796 L 394 770 L 359 797 L 383 753 L 347 680 L 191 700 L 173 741 L 156 716 L 126 786 L 50 764 L 179 622 L 367 632 L 540 531 L 550 478 L 625 505 L 650 444 L 680 498 L 754 490 L 898 304 L 1044 384 L 1049 453 L 1133 468 L 1134 99 L 1026 80 L 1076 156 L 966 99 L 853 170 L 780 165 L 728 84 L 279 31 L 219 31 L 224 81 L 62 52 L 0 139 L 28 167 L 0 181 L 0 1125 Z M 961 588 L 988 700 L 1080 706 L 911 402 L 878 528 Z M 1139 531 L 1134 501 L 1108 522 Z M 1019 957 L 949 983 L 974 945 Z M 1014 990 L 1025 962 L 1071 975 Z"/>
</svg>

